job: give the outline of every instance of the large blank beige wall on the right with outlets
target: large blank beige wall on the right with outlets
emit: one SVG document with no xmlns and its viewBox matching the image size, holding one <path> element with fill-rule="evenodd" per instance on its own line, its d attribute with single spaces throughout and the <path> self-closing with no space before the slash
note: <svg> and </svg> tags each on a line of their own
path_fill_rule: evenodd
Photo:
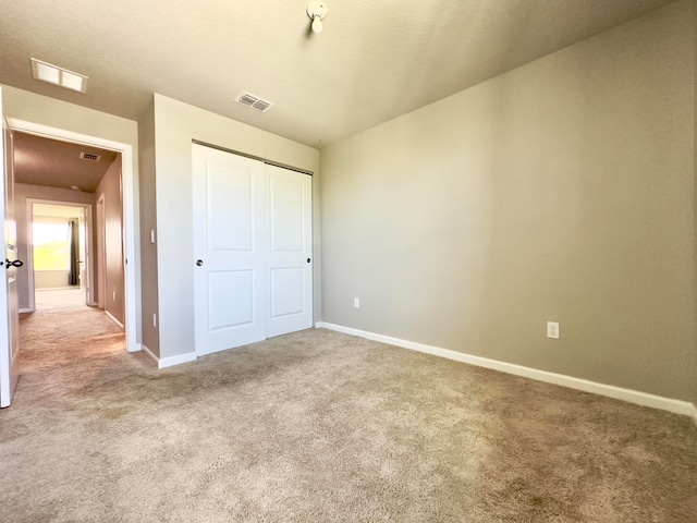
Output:
<svg viewBox="0 0 697 523">
<path fill-rule="evenodd" d="M 694 32 L 673 3 L 322 149 L 322 320 L 693 399 Z"/>
</svg>

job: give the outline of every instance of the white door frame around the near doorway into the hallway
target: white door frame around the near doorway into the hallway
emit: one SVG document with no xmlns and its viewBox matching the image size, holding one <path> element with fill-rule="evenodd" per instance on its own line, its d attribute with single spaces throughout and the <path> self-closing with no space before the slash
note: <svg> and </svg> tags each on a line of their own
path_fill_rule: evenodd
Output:
<svg viewBox="0 0 697 523">
<path fill-rule="evenodd" d="M 10 127 L 14 131 L 44 136 L 59 142 L 70 142 L 74 144 L 89 145 L 102 149 L 121 153 L 121 184 L 123 187 L 123 267 L 125 277 L 125 309 L 126 309 L 126 351 L 139 351 L 140 345 L 137 340 L 140 338 L 137 332 L 137 301 L 136 295 L 136 272 L 135 272 L 135 172 L 133 170 L 133 146 L 121 142 L 75 133 L 64 129 L 51 127 L 40 123 L 27 122 L 17 119 L 8 119 Z M 131 263 L 129 263 L 131 260 Z"/>
</svg>

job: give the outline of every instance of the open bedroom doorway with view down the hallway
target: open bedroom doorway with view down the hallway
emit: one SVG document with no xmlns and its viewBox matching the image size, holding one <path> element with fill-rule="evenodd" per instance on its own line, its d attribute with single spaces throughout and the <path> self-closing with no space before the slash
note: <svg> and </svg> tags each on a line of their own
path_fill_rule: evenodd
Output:
<svg viewBox="0 0 697 523">
<path fill-rule="evenodd" d="M 14 147 L 21 312 L 94 306 L 124 329 L 121 155 L 23 133 Z"/>
</svg>

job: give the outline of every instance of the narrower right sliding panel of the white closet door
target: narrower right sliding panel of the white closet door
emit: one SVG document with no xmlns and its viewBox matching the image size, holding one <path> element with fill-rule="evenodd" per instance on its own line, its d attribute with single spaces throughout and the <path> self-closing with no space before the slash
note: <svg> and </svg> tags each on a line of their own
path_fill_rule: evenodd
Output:
<svg viewBox="0 0 697 523">
<path fill-rule="evenodd" d="M 313 178 L 269 165 L 266 172 L 270 338 L 313 326 Z"/>
</svg>

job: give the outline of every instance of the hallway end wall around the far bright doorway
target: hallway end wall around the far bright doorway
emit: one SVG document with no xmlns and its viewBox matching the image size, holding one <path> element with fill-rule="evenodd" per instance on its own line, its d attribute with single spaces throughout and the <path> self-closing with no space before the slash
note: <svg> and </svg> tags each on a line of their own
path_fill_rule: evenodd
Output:
<svg viewBox="0 0 697 523">
<path fill-rule="evenodd" d="M 70 188 L 44 187 L 40 185 L 15 183 L 14 216 L 17 223 L 17 256 L 20 259 L 24 260 L 28 259 L 28 238 L 29 226 L 32 222 L 30 217 L 27 216 L 27 198 L 72 204 L 87 204 L 91 206 L 95 200 L 95 195 L 91 193 L 71 191 Z M 17 295 L 20 309 L 26 311 L 29 307 L 29 278 L 32 278 L 32 275 L 28 270 L 17 270 Z"/>
</svg>

